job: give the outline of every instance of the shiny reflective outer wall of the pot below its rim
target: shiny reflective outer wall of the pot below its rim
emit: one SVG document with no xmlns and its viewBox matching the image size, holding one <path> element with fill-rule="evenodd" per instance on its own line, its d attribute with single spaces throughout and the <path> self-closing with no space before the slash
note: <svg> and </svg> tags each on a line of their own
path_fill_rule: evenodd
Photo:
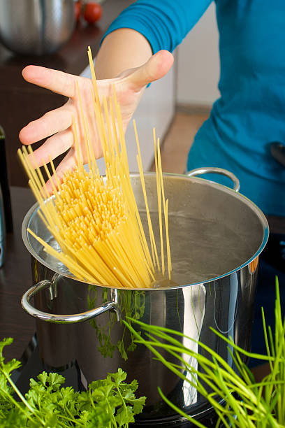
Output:
<svg viewBox="0 0 285 428">
<path fill-rule="evenodd" d="M 48 269 L 45 268 L 44 271 L 45 277 L 49 276 Z M 43 276 L 38 269 L 36 275 L 40 278 Z M 205 411 L 209 407 L 207 401 L 200 397 L 194 387 L 189 387 L 188 383 L 155 361 L 152 353 L 143 345 L 134 343 L 133 335 L 122 320 L 129 321 L 131 317 L 147 324 L 180 331 L 185 335 L 181 337 L 181 341 L 187 348 L 204 352 L 207 356 L 195 343 L 202 341 L 217 350 L 233 366 L 226 343 L 213 334 L 210 327 L 219 329 L 226 337 L 235 337 L 235 343 L 247 348 L 252 311 L 247 311 L 247 306 L 244 306 L 241 290 L 244 287 L 251 290 L 252 305 L 255 280 L 252 274 L 249 275 L 247 266 L 242 269 L 241 278 L 242 284 L 238 274 L 233 273 L 220 282 L 212 281 L 176 289 L 117 290 L 119 321 L 115 313 L 111 312 L 78 324 L 58 325 L 38 321 L 41 355 L 47 364 L 55 367 L 66 366 L 71 359 L 76 360 L 87 383 L 102 377 L 103 373 L 107 374 L 121 367 L 138 380 L 139 393 L 147 395 L 147 418 L 159 415 L 173 417 L 173 411 L 159 397 L 158 385 L 180 408 Z M 46 290 L 38 292 L 36 307 L 41 310 L 52 313 L 84 313 L 110 301 L 112 289 L 107 287 L 83 284 L 60 275 L 51 279 L 57 285 L 57 297 L 54 295 L 50 299 L 51 294 Z M 138 334 L 142 334 L 138 324 L 133 324 L 133 328 Z M 56 347 L 54 342 L 57 343 Z M 161 353 L 163 355 L 163 350 Z M 181 357 L 185 359 L 186 355 L 182 353 Z M 194 369 L 200 369 L 196 359 L 189 359 L 189 364 Z M 184 373 L 183 368 L 181 371 Z M 144 415 L 145 413 L 139 418 L 145 420 Z"/>
</svg>

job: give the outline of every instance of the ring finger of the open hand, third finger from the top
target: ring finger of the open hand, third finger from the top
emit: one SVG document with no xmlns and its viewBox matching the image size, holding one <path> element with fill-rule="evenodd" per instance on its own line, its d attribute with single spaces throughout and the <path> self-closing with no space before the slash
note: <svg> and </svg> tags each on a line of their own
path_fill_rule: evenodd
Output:
<svg viewBox="0 0 285 428">
<path fill-rule="evenodd" d="M 34 167 L 48 164 L 50 159 L 55 159 L 57 156 L 66 152 L 68 148 L 71 148 L 72 145 L 73 131 L 71 128 L 58 132 L 50 138 L 47 138 L 47 141 L 35 150 L 33 155 L 29 155 L 30 162 Z"/>
</svg>

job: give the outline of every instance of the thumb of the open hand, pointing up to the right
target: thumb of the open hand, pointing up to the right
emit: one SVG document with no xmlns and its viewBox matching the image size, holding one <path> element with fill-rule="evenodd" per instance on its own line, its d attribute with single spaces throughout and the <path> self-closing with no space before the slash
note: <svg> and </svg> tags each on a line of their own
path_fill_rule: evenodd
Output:
<svg viewBox="0 0 285 428">
<path fill-rule="evenodd" d="M 129 76 L 124 78 L 124 82 L 131 85 L 133 90 L 140 90 L 148 83 L 165 76 L 173 65 L 173 61 L 172 53 L 168 50 L 159 50 L 145 64 L 129 73 Z"/>
</svg>

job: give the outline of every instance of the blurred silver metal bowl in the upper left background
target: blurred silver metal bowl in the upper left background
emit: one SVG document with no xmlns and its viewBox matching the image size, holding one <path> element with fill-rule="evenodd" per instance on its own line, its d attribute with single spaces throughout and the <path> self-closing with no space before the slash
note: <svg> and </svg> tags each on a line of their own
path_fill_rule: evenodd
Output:
<svg viewBox="0 0 285 428">
<path fill-rule="evenodd" d="M 55 52 L 74 27 L 73 0 L 0 0 L 0 41 L 13 52 Z"/>
</svg>

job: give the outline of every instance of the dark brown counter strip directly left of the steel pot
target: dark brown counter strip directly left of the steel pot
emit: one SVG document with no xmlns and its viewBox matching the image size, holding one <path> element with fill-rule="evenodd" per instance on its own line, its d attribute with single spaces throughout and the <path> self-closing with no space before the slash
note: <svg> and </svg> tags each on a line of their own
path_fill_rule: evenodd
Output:
<svg viewBox="0 0 285 428">
<path fill-rule="evenodd" d="M 6 347 L 7 359 L 20 359 L 36 331 L 34 319 L 21 306 L 22 294 L 32 285 L 31 259 L 22 241 L 21 227 L 34 202 L 31 190 L 11 187 L 14 232 L 6 236 L 6 259 L 0 268 L 0 338 L 15 339 L 13 345 Z"/>
</svg>

